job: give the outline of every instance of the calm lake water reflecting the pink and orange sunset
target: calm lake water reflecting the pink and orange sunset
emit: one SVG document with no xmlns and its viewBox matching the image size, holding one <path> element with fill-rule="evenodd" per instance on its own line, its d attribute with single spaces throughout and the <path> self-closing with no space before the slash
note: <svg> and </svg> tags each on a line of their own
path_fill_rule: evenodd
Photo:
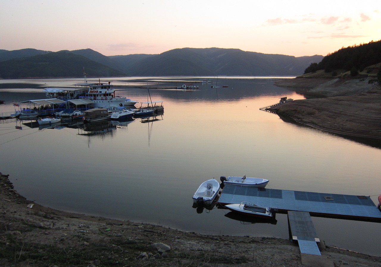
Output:
<svg viewBox="0 0 381 267">
<path fill-rule="evenodd" d="M 31 82 L 18 80 L 23 81 Z M 119 82 L 133 84 L 128 78 Z M 20 194 L 48 207 L 216 235 L 288 238 L 287 215 L 277 214 L 277 224 L 243 224 L 227 218 L 223 209 L 197 213 L 195 190 L 222 175 L 267 178 L 273 189 L 376 195 L 371 199 L 378 203 L 379 148 L 260 111 L 280 97 L 304 98 L 274 86 L 273 80 L 219 82 L 229 87 L 150 89 L 152 101 L 163 101 L 162 116 L 95 135 L 69 127 L 0 124 L 0 171 L 10 174 Z M 32 83 L 57 87 L 74 79 Z M 13 102 L 45 98 L 40 91 L 0 89 L 6 101 L 0 112 L 13 110 Z M 121 88 L 117 94 L 147 101 L 147 89 Z M 312 220 L 327 245 L 381 256 L 380 224 Z"/>
</svg>

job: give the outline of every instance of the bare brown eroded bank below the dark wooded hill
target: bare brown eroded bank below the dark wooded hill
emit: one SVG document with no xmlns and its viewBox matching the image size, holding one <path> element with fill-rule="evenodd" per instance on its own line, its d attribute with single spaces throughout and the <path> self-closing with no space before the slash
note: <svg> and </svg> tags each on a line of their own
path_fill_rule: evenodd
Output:
<svg viewBox="0 0 381 267">
<path fill-rule="evenodd" d="M 275 83 L 311 97 L 275 110 L 311 127 L 357 137 L 381 138 L 381 89 L 370 78 L 295 78 Z"/>
</svg>

